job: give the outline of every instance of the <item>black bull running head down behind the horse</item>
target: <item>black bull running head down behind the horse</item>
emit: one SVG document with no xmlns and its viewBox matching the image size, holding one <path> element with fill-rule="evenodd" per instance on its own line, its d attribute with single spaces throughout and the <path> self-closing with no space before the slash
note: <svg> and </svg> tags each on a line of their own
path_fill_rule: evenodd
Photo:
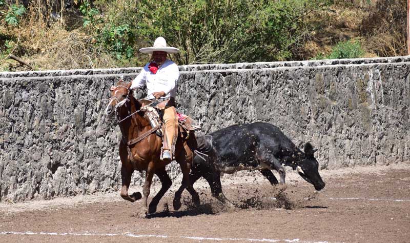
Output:
<svg viewBox="0 0 410 243">
<path fill-rule="evenodd" d="M 233 125 L 197 138 L 201 151 L 207 156 L 195 156 L 190 181 L 195 183 L 204 177 L 212 195 L 224 201 L 220 174 L 232 174 L 240 170 L 259 170 L 272 185 L 278 180 L 272 169 L 279 172 L 280 183 L 285 183 L 283 166 L 290 166 L 313 184 L 316 190 L 324 188 L 319 164 L 314 157 L 316 149 L 310 143 L 300 151 L 279 128 L 268 123 Z M 205 147 L 205 148 L 203 148 Z"/>
</svg>

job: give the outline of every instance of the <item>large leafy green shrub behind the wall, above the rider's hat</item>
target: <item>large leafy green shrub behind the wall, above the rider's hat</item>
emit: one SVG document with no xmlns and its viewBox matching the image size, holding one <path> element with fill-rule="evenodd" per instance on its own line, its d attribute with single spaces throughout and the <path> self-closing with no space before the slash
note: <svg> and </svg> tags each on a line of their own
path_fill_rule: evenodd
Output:
<svg viewBox="0 0 410 243">
<path fill-rule="evenodd" d="M 158 36 L 181 49 L 179 64 L 285 60 L 305 31 L 304 16 L 330 0 L 101 0 L 99 44 L 116 56 L 152 45 Z M 119 33 L 116 28 L 127 26 Z"/>
</svg>

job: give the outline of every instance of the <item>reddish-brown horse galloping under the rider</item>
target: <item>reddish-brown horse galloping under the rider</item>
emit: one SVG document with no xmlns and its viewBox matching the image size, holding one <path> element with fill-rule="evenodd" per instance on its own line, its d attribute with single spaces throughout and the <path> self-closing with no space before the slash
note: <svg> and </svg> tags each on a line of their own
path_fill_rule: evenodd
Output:
<svg viewBox="0 0 410 243">
<path fill-rule="evenodd" d="M 111 98 L 106 108 L 106 114 L 112 115 L 114 112 L 116 113 L 118 126 L 122 133 L 122 139 L 119 144 L 119 156 L 122 164 L 122 187 L 120 193 L 122 198 L 132 202 L 141 198 L 141 193 L 139 192 L 129 195 L 128 189 L 134 170 L 146 171 L 145 183 L 142 190 L 144 194 L 144 209 L 141 212 L 141 215 L 145 216 L 148 213 L 154 213 L 156 211 L 159 200 L 172 185 L 172 181 L 165 170 L 165 166 L 171 161 L 162 161 L 160 159 L 162 139 L 152 130 L 149 120 L 144 117 L 144 111 L 140 111 L 142 104 L 133 97 L 130 86 L 131 82 L 125 83 L 119 80 L 116 86 L 111 87 Z M 135 142 L 135 139 L 140 140 L 134 144 L 129 143 L 129 141 Z M 180 134 L 178 134 L 175 146 L 175 160 L 182 170 L 182 187 L 187 188 L 192 195 L 194 203 L 199 205 L 198 193 L 189 181 L 193 153 L 186 141 L 182 140 Z M 150 195 L 151 182 L 154 174 L 159 177 L 162 187 L 152 199 L 148 208 L 148 196 Z M 174 210 L 178 210 L 181 207 L 180 200 L 182 191 L 183 189 L 175 193 L 173 200 Z"/>
</svg>

